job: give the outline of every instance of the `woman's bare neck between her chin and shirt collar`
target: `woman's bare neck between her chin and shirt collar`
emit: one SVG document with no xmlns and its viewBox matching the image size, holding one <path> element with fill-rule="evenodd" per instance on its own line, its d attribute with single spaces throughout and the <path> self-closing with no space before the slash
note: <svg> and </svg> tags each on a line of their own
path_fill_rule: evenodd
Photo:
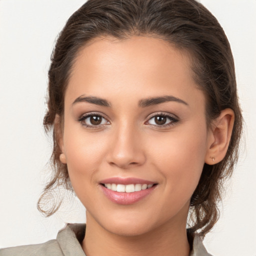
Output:
<svg viewBox="0 0 256 256">
<path fill-rule="evenodd" d="M 141 235 L 125 236 L 108 232 L 86 214 L 86 232 L 82 248 L 86 256 L 188 256 L 186 222 L 170 221 Z"/>
</svg>

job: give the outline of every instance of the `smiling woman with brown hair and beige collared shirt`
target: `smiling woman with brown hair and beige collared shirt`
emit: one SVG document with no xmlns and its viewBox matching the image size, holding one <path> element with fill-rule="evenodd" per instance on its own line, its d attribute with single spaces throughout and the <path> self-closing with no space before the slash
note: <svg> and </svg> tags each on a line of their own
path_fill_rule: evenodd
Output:
<svg viewBox="0 0 256 256">
<path fill-rule="evenodd" d="M 211 13 L 193 0 L 89 0 L 59 35 L 48 75 L 55 172 L 38 208 L 54 213 L 45 196 L 73 189 L 86 232 L 68 225 L 57 240 L 1 253 L 209 255 L 200 237 L 217 220 L 242 125 Z"/>
</svg>

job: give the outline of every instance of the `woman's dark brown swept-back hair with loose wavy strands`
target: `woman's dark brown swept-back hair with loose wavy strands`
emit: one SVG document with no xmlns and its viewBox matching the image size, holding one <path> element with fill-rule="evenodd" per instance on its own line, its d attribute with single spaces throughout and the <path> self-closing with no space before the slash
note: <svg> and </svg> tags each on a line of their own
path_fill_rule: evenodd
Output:
<svg viewBox="0 0 256 256">
<path fill-rule="evenodd" d="M 37 207 L 49 216 L 61 203 L 45 209 L 47 198 L 53 199 L 49 195 L 54 188 L 72 190 L 67 167 L 59 160 L 54 118 L 56 114 L 63 115 L 65 89 L 80 48 L 95 37 L 108 35 L 119 39 L 131 35 L 157 36 L 186 50 L 191 56 L 194 79 L 207 98 L 207 123 L 225 108 L 234 111 L 227 153 L 214 165 L 204 164 L 190 201 L 189 231 L 204 236 L 217 221 L 222 183 L 231 175 L 237 160 L 242 116 L 228 40 L 216 18 L 195 0 L 88 0 L 70 16 L 56 41 L 48 71 L 48 110 L 43 124 L 47 131 L 53 128 L 54 172 Z"/>
</svg>

